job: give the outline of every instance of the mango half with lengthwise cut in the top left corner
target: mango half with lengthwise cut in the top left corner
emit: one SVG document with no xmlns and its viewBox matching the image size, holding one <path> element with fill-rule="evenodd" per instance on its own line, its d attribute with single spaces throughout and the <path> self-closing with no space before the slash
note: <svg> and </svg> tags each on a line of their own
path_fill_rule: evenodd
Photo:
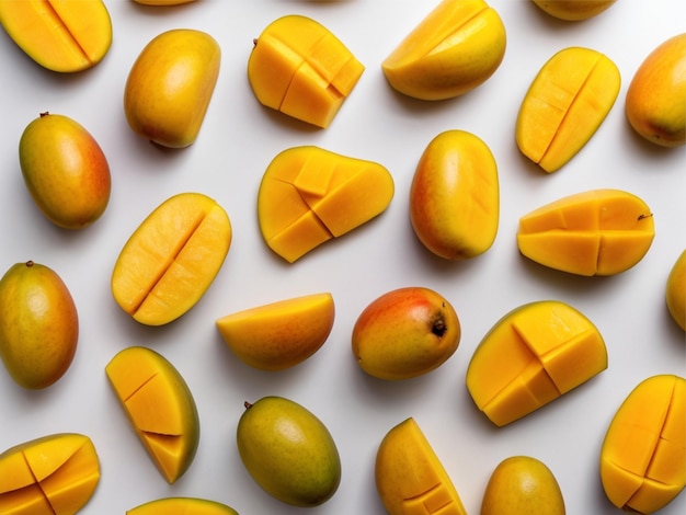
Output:
<svg viewBox="0 0 686 515">
<path fill-rule="evenodd" d="M 0 25 L 52 71 L 91 68 L 112 45 L 112 21 L 102 0 L 1 0 Z"/>
</svg>

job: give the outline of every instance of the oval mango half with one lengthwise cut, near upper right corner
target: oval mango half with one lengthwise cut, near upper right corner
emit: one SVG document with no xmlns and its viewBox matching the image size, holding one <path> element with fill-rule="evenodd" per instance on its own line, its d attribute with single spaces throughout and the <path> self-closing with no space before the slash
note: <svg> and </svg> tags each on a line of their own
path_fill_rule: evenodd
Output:
<svg viewBox="0 0 686 515">
<path fill-rule="evenodd" d="M 604 54 L 583 47 L 556 53 L 529 85 L 515 125 L 524 156 L 548 173 L 567 164 L 610 112 L 621 77 Z"/>
</svg>

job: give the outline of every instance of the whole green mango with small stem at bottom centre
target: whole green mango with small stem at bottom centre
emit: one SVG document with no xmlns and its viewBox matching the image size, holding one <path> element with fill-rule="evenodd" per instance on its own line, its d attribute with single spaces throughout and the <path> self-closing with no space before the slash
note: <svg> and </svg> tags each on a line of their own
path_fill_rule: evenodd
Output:
<svg viewBox="0 0 686 515">
<path fill-rule="evenodd" d="M 341 482 L 341 458 L 331 433 L 311 411 L 283 397 L 245 402 L 236 442 L 252 479 L 294 506 L 329 501 Z"/>
</svg>

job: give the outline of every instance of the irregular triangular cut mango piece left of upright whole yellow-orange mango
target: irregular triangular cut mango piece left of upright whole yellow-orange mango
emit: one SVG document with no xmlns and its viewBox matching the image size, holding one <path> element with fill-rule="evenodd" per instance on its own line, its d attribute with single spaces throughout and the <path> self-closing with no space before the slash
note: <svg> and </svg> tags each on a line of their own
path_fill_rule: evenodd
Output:
<svg viewBox="0 0 686 515">
<path fill-rule="evenodd" d="M 293 147 L 272 160 L 260 183 L 260 231 L 293 263 L 380 215 L 393 193 L 393 178 L 377 162 Z"/>
</svg>

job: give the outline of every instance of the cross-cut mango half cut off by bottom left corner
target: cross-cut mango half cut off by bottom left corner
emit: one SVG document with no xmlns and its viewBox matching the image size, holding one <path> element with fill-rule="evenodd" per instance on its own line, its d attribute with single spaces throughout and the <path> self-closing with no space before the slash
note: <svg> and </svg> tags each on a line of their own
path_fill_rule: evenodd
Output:
<svg viewBox="0 0 686 515">
<path fill-rule="evenodd" d="M 88 436 L 58 433 L 0 454 L 0 513 L 69 515 L 81 510 L 100 481 Z"/>
</svg>

